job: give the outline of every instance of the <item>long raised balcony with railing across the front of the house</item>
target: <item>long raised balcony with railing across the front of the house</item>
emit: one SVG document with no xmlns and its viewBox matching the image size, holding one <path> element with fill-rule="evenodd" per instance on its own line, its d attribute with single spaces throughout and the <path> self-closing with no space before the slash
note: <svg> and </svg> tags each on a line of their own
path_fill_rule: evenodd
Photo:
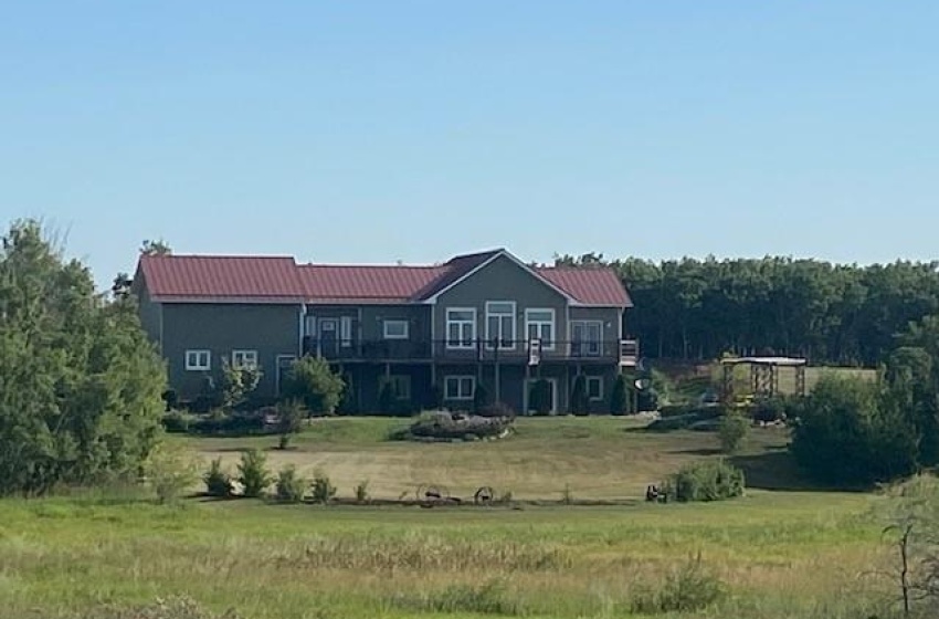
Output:
<svg viewBox="0 0 939 619">
<path fill-rule="evenodd" d="M 532 342 L 527 339 L 483 339 L 463 342 L 373 339 L 345 340 L 304 337 L 304 355 L 314 355 L 337 361 L 504 361 L 528 363 Z M 537 348 L 536 348 L 537 353 Z M 635 366 L 639 343 L 635 339 L 605 339 L 587 342 L 542 342 L 541 361 L 618 363 Z"/>
</svg>

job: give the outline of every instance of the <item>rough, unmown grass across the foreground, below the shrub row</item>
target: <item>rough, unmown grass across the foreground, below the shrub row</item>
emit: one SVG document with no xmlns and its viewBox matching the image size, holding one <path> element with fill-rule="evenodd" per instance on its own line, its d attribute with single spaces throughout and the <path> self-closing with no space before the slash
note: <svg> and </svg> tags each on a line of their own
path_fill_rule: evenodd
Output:
<svg viewBox="0 0 939 619">
<path fill-rule="evenodd" d="M 6 501 L 0 616 L 187 595 L 251 618 L 618 617 L 700 552 L 730 587 L 708 616 L 836 617 L 873 598 L 858 578 L 879 554 L 858 518 L 866 503 L 771 492 L 527 510 Z"/>
</svg>

